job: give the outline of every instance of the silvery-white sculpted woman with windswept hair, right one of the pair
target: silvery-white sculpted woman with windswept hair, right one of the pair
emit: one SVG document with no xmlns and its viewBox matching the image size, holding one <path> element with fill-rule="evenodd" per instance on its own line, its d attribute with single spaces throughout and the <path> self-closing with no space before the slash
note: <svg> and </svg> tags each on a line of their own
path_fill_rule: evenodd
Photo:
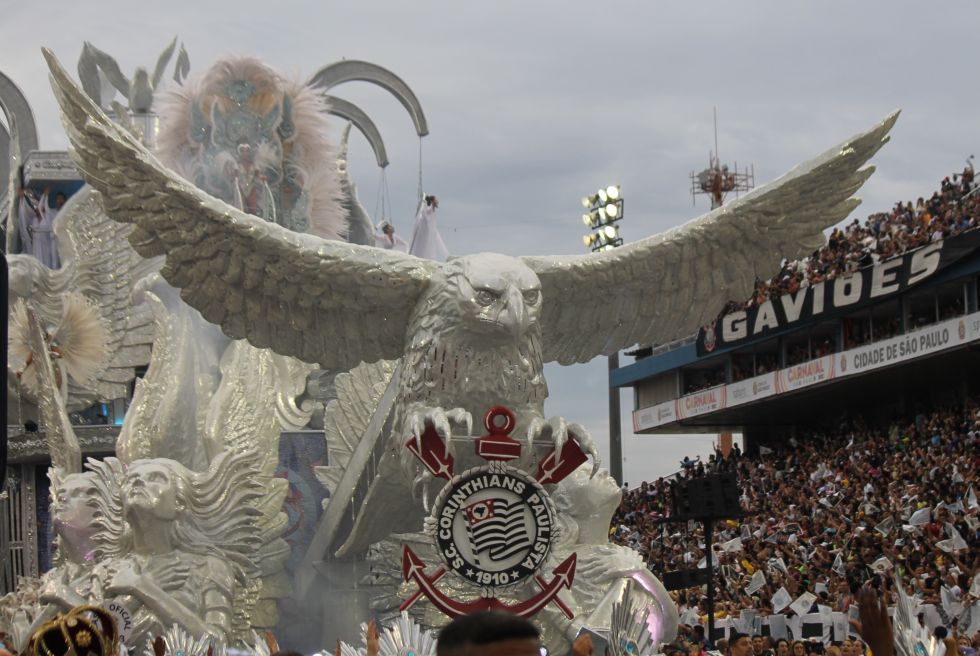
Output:
<svg viewBox="0 0 980 656">
<path fill-rule="evenodd" d="M 224 452 L 209 471 L 153 458 L 133 462 L 122 482 L 130 553 L 107 563 L 105 597 L 134 617 L 129 642 L 142 644 L 173 624 L 195 637 L 235 641 L 236 602 L 252 575 L 260 542 L 254 503 L 257 472 L 247 454 Z"/>
</svg>

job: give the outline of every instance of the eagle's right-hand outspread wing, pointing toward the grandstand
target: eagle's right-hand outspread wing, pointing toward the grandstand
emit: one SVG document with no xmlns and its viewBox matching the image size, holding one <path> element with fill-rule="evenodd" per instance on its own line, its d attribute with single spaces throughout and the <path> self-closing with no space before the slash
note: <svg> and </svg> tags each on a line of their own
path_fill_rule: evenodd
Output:
<svg viewBox="0 0 980 656">
<path fill-rule="evenodd" d="M 541 280 L 544 359 L 587 362 L 686 337 L 748 298 L 775 258 L 809 253 L 860 204 L 898 112 L 873 129 L 700 218 L 612 251 L 522 258 Z"/>
</svg>

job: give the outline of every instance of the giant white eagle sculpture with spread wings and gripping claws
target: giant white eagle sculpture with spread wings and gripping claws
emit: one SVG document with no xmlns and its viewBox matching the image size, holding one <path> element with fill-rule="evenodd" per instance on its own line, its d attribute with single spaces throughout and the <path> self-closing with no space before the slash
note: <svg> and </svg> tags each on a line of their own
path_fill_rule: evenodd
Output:
<svg viewBox="0 0 980 656">
<path fill-rule="evenodd" d="M 544 363 L 687 336 L 729 299 L 747 297 L 778 257 L 822 245 L 823 230 L 860 203 L 852 194 L 873 172 L 862 167 L 897 118 L 736 202 L 614 251 L 437 263 L 290 232 L 209 196 L 106 118 L 44 52 L 79 169 L 107 213 L 134 224 L 137 252 L 166 256 L 162 275 L 208 321 L 324 368 L 401 359 L 392 439 L 369 495 L 385 501 L 359 518 L 367 523 L 361 545 L 420 527 L 422 510 L 405 493 L 413 472 L 393 464 L 426 423 L 450 449 L 453 425 L 469 427 L 503 404 L 517 415 L 515 436 L 560 446 L 571 430 L 597 461 L 581 427 L 544 417 Z"/>
</svg>

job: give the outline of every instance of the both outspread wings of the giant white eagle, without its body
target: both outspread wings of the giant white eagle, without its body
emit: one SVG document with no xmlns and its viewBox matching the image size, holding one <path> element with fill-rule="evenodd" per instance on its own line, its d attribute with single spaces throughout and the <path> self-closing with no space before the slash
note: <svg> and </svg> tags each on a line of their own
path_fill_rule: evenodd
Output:
<svg viewBox="0 0 980 656">
<path fill-rule="evenodd" d="M 78 165 L 144 256 L 206 319 L 321 366 L 402 355 L 410 312 L 439 265 L 322 241 L 244 214 L 166 170 L 109 121 L 45 51 Z M 861 168 L 898 113 L 778 180 L 683 226 L 613 251 L 525 257 L 542 287 L 544 359 L 585 362 L 690 335 L 745 298 L 773 258 L 824 243 L 860 201 Z M 588 294 L 583 295 L 583 290 Z"/>
</svg>

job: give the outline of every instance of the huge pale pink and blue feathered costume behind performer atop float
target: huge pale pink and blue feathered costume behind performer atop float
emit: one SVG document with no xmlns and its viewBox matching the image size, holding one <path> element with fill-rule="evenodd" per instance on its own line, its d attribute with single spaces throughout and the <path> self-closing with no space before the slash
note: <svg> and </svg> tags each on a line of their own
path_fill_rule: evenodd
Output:
<svg viewBox="0 0 980 656">
<path fill-rule="evenodd" d="M 157 155 L 185 179 L 232 202 L 236 190 L 221 178 L 225 167 L 237 166 L 235 146 L 247 143 L 257 169 L 282 176 L 268 182 L 281 201 L 276 222 L 327 239 L 347 234 L 338 151 L 328 139 L 320 91 L 286 80 L 256 58 L 226 57 L 202 77 L 160 94 L 155 108 L 161 117 Z M 243 129 L 237 119 L 225 126 L 233 115 L 247 117 L 249 126 Z M 295 205 L 278 184 L 295 185 Z"/>
</svg>

